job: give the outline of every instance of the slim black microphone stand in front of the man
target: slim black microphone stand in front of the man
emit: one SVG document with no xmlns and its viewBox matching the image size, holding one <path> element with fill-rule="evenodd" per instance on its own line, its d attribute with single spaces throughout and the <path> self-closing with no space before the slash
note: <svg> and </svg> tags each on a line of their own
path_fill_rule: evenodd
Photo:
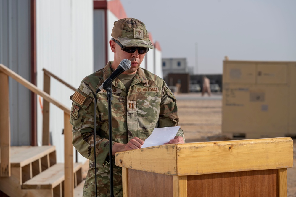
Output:
<svg viewBox="0 0 296 197">
<path fill-rule="evenodd" d="M 112 155 L 112 111 L 111 111 L 111 105 L 112 105 L 112 88 L 111 88 L 111 83 L 110 85 L 105 88 L 107 92 L 107 100 L 108 100 L 108 121 L 109 121 L 109 167 L 110 167 L 110 197 L 114 197 L 113 194 L 113 155 Z"/>
</svg>

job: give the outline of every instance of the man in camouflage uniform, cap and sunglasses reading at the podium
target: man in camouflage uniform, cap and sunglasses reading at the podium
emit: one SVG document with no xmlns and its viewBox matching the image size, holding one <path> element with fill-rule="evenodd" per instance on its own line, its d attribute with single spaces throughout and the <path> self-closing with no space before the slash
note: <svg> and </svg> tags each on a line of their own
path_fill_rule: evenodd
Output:
<svg viewBox="0 0 296 197">
<path fill-rule="evenodd" d="M 70 97 L 73 101 L 70 122 L 73 125 L 73 145 L 90 160 L 83 196 L 110 195 L 108 101 L 103 89 L 94 94 L 123 59 L 131 68 L 112 83 L 112 155 L 116 152 L 139 149 L 156 127 L 178 126 L 176 98 L 163 79 L 140 68 L 145 53 L 153 49 L 144 23 L 134 18 L 115 22 L 109 41 L 114 61 L 85 77 Z M 136 47 L 136 48 L 135 48 Z M 96 102 L 96 167 L 94 170 L 94 102 Z M 184 143 L 183 131 L 169 143 Z M 122 196 L 121 167 L 113 156 L 114 195 Z"/>
</svg>

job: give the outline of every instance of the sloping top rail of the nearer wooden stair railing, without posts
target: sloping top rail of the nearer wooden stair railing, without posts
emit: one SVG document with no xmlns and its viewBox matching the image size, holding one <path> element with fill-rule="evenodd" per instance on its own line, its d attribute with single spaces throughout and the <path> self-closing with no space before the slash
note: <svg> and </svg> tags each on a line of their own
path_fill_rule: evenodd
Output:
<svg viewBox="0 0 296 197">
<path fill-rule="evenodd" d="M 10 76 L 15 81 L 19 82 L 20 84 L 22 84 L 23 86 L 25 86 L 26 88 L 28 88 L 29 90 L 34 92 L 35 94 L 40 95 L 41 97 L 43 97 L 48 102 L 51 102 L 52 104 L 56 105 L 58 108 L 62 109 L 64 112 L 66 112 L 66 113 L 68 113 L 70 115 L 71 110 L 69 108 L 67 108 L 65 105 L 58 102 L 54 98 L 52 98 L 46 92 L 44 92 L 41 89 L 37 88 L 34 84 L 28 82 L 22 76 L 16 74 L 14 71 L 10 70 L 9 68 L 4 66 L 3 64 L 0 64 L 0 71 L 7 74 L 8 76 Z"/>
</svg>

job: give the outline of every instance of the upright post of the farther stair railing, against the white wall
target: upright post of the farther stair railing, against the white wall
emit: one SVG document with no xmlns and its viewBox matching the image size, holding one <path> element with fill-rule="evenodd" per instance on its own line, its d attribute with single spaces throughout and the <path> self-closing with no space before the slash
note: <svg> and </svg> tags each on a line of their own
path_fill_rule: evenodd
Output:
<svg viewBox="0 0 296 197">
<path fill-rule="evenodd" d="M 50 76 L 43 73 L 43 91 L 50 95 Z M 43 99 L 42 145 L 50 144 L 49 135 L 49 102 Z"/>
</svg>

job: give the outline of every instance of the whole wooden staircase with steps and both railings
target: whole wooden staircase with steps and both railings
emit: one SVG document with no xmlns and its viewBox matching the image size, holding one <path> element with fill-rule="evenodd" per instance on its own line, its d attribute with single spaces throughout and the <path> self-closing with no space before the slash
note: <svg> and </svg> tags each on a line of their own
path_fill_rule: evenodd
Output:
<svg viewBox="0 0 296 197">
<path fill-rule="evenodd" d="M 49 71 L 44 71 L 42 91 L 0 64 L 0 197 L 82 196 L 82 166 L 83 175 L 88 166 L 85 166 L 87 163 L 73 163 L 72 125 L 69 122 L 71 110 L 49 95 L 50 76 L 56 78 Z M 9 77 L 43 97 L 44 146 L 11 146 Z M 58 80 L 75 90 L 61 79 Z M 59 150 L 64 152 L 64 164 L 57 164 L 55 147 L 46 146 L 49 144 L 49 103 L 56 105 L 64 113 L 64 150 Z"/>
</svg>

